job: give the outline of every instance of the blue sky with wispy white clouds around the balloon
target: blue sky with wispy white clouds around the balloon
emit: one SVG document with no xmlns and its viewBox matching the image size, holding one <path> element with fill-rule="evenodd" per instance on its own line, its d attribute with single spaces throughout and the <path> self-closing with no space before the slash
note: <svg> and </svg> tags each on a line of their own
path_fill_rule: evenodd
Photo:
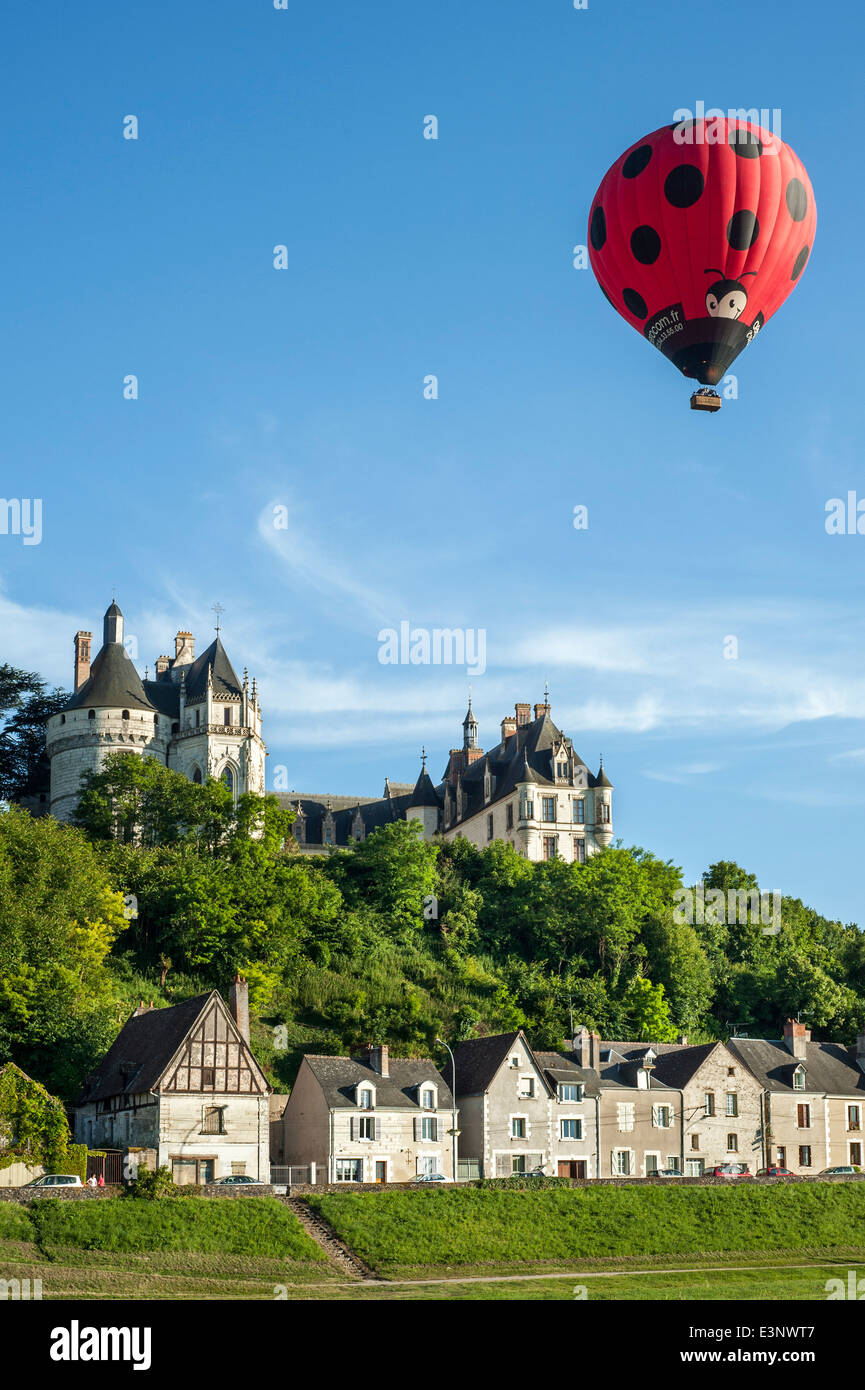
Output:
<svg viewBox="0 0 865 1390">
<path fill-rule="evenodd" d="M 864 31 L 804 0 L 10 7 L 0 491 L 43 538 L 0 535 L 0 657 L 68 684 L 115 589 L 143 671 L 218 600 L 271 780 L 375 795 L 421 744 L 441 771 L 469 682 L 378 631 L 484 628 L 484 746 L 548 678 L 624 842 L 865 922 L 865 537 L 825 531 L 865 496 Z M 779 107 L 819 210 L 718 417 L 572 265 L 609 164 L 698 100 Z"/>
</svg>

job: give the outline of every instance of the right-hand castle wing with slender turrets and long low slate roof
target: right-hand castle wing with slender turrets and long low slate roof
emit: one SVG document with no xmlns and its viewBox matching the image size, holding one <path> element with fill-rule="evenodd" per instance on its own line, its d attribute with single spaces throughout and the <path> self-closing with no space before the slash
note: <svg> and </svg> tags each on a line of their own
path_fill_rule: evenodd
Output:
<svg viewBox="0 0 865 1390">
<path fill-rule="evenodd" d="M 469 701 L 462 748 L 451 749 L 438 784 L 424 756 L 414 787 L 385 780 L 377 799 L 281 795 L 295 812 L 298 848 L 327 853 L 392 821 L 417 820 L 426 840 L 463 835 L 480 847 L 503 840 L 527 859 L 583 863 L 612 842 L 612 783 L 604 764 L 594 774 L 553 724 L 548 696 L 531 716 L 530 705 L 515 705 L 502 720 L 501 742 L 484 752 Z"/>
</svg>

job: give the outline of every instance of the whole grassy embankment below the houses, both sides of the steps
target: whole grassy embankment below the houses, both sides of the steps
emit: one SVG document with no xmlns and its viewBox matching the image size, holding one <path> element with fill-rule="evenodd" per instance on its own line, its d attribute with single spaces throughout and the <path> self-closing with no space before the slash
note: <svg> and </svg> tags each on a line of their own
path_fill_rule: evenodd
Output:
<svg viewBox="0 0 865 1390">
<path fill-rule="evenodd" d="M 268 1197 L 0 1204 L 0 1279 L 40 1279 L 43 1301 L 816 1301 L 865 1261 L 858 1183 L 335 1193 L 310 1207 L 374 1280 L 352 1280 Z"/>
</svg>

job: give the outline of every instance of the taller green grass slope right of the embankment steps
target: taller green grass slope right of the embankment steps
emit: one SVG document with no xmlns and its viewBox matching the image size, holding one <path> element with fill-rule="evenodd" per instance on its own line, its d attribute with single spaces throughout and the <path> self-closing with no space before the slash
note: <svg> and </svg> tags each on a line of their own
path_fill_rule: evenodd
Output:
<svg viewBox="0 0 865 1390">
<path fill-rule="evenodd" d="M 865 1184 L 325 1193 L 307 1198 L 385 1277 L 584 1261 L 865 1254 Z M 681 1258 L 679 1258 L 681 1257 Z M 702 1258 L 698 1262 L 704 1262 Z M 741 1261 L 740 1261 L 741 1262 Z"/>
</svg>

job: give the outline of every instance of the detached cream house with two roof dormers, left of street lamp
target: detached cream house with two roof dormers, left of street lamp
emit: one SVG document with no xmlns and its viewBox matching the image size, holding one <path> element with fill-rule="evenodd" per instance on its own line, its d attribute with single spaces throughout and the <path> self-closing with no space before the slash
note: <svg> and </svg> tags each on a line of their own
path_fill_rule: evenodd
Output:
<svg viewBox="0 0 865 1390">
<path fill-rule="evenodd" d="M 453 1176 L 453 1099 L 426 1058 L 305 1056 L 284 1112 L 285 1162 L 312 1182 L 407 1183 Z"/>
</svg>

